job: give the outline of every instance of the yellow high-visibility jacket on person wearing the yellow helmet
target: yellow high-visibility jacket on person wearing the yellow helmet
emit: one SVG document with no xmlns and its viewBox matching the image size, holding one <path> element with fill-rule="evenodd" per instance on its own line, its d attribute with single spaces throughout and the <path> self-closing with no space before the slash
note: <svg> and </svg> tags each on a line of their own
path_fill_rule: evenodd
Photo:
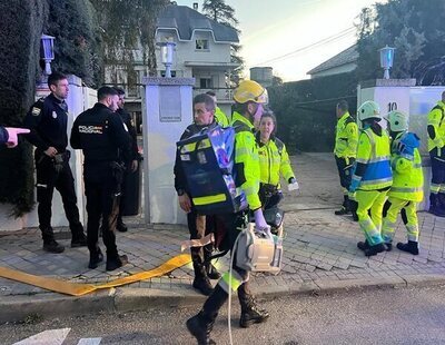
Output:
<svg viewBox="0 0 445 345">
<path fill-rule="evenodd" d="M 249 208 L 255 210 L 261 207 L 261 201 L 258 197 L 259 160 L 254 125 L 235 111 L 230 126 L 235 128 L 235 184 L 244 190 Z"/>
</svg>

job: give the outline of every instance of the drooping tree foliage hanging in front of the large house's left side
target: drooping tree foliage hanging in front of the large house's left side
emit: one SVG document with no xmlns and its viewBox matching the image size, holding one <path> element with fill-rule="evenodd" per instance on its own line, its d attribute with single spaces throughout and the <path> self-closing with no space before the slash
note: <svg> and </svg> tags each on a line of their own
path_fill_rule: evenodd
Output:
<svg viewBox="0 0 445 345">
<path fill-rule="evenodd" d="M 105 63 L 123 68 L 127 83 L 136 83 L 135 61 L 141 60 L 156 73 L 155 31 L 158 12 L 168 0 L 90 0 L 98 13 L 103 40 Z M 111 73 L 116 76 L 115 72 Z M 117 82 L 117 80 L 113 80 Z"/>
</svg>

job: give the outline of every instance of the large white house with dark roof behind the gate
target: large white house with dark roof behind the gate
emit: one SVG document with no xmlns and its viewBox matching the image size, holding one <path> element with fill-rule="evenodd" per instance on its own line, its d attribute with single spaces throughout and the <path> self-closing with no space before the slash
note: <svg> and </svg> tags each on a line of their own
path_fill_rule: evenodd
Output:
<svg viewBox="0 0 445 345">
<path fill-rule="evenodd" d="M 236 30 L 218 23 L 197 10 L 187 6 L 169 4 L 158 17 L 156 42 L 171 41 L 176 43 L 172 77 L 196 78 L 194 95 L 212 90 L 216 92 L 218 106 L 227 114 L 230 112 L 233 92 L 227 80 L 229 73 L 238 63 L 231 62 L 230 45 L 238 43 Z M 160 48 L 156 48 L 158 77 L 165 75 L 161 63 Z M 139 86 L 128 88 L 123 69 L 113 69 L 117 76 L 107 76 L 107 82 L 117 80 L 127 90 L 126 108 L 136 116 L 140 125 L 141 91 L 140 81 L 148 75 L 144 65 L 142 52 L 135 51 L 135 80 Z"/>
</svg>

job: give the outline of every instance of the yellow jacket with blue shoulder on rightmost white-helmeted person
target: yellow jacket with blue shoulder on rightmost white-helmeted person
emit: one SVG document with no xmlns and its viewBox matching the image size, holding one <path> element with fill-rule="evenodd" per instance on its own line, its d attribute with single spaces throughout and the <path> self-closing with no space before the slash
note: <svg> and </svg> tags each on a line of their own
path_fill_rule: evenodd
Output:
<svg viewBox="0 0 445 345">
<path fill-rule="evenodd" d="M 424 174 L 422 172 L 422 158 L 417 148 L 413 155 L 404 155 L 398 150 L 398 144 L 409 132 L 399 134 L 392 144 L 393 186 L 388 196 L 403 200 L 419 203 L 424 197 Z"/>
</svg>

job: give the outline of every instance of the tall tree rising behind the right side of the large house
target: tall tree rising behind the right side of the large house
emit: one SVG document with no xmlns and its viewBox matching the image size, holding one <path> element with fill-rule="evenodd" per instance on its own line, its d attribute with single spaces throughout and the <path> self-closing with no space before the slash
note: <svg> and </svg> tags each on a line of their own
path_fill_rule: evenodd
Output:
<svg viewBox="0 0 445 345">
<path fill-rule="evenodd" d="M 205 0 L 202 3 L 202 13 L 216 22 L 234 29 L 238 34 L 241 32 L 237 28 L 239 21 L 235 17 L 235 9 L 226 4 L 225 0 Z M 240 50 L 240 45 L 230 45 L 230 62 L 239 63 L 239 67 L 237 67 L 230 75 L 230 82 L 234 85 L 238 83 L 239 75 L 244 69 L 244 59 L 239 55 Z"/>
</svg>

